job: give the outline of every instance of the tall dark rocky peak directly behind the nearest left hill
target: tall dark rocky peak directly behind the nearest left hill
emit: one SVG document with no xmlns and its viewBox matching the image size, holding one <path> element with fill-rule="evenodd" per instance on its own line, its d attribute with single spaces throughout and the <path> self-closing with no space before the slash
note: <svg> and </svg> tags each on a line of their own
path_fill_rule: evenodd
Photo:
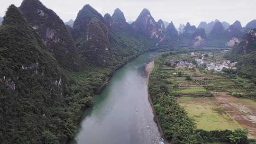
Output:
<svg viewBox="0 0 256 144">
<path fill-rule="evenodd" d="M 65 69 L 79 71 L 81 62 L 73 38 L 59 16 L 39 0 L 23 0 L 19 9 L 58 64 Z"/>
</svg>

